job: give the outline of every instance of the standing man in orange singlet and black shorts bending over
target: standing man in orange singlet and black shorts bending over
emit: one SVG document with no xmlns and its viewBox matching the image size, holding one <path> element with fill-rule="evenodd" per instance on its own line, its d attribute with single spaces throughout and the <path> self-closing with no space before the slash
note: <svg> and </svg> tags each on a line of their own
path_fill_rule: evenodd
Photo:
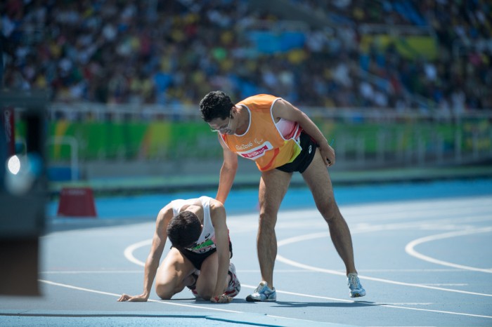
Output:
<svg viewBox="0 0 492 327">
<path fill-rule="evenodd" d="M 351 298 L 365 295 L 354 263 L 350 230 L 339 211 L 327 166 L 335 151 L 304 112 L 273 95 L 254 95 L 237 104 L 226 93 L 213 91 L 200 101 L 200 112 L 224 149 L 216 199 L 225 203 L 238 168 L 238 156 L 256 162 L 259 182 L 257 254 L 261 283 L 248 301 L 276 301 L 273 266 L 277 255 L 275 225 L 292 173 L 302 173 L 346 270 Z"/>
</svg>

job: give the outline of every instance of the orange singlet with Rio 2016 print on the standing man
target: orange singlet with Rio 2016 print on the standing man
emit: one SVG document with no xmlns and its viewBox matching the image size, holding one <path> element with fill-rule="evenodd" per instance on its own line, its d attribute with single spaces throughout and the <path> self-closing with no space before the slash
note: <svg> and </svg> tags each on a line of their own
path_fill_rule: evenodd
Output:
<svg viewBox="0 0 492 327">
<path fill-rule="evenodd" d="M 278 130 L 271 109 L 276 100 L 273 95 L 259 94 L 246 98 L 236 107 L 245 107 L 250 112 L 250 124 L 242 135 L 220 134 L 232 152 L 254 160 L 260 171 L 269 171 L 292 162 L 301 152 L 299 135 L 302 128 L 294 124 L 290 135 Z"/>
</svg>

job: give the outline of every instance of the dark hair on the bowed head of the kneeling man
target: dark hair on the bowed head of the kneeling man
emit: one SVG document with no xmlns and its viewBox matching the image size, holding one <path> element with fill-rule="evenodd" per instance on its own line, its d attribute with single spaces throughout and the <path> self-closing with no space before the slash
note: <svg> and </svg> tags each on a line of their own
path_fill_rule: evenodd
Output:
<svg viewBox="0 0 492 327">
<path fill-rule="evenodd" d="M 176 248 L 186 248 L 198 240 L 202 233 L 202 223 L 190 211 L 175 215 L 167 225 L 167 237 Z"/>
</svg>

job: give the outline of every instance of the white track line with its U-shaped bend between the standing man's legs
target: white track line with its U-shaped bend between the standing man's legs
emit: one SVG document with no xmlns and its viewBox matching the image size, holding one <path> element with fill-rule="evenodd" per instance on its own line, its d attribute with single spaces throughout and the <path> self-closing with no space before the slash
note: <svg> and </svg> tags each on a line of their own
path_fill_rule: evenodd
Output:
<svg viewBox="0 0 492 327">
<path fill-rule="evenodd" d="M 297 243 L 299 241 L 306 241 L 310 239 L 319 239 L 321 237 L 325 237 L 327 235 L 326 232 L 323 233 L 313 233 L 313 234 L 305 234 L 301 236 L 294 236 L 289 239 L 283 239 L 282 241 L 278 242 L 278 246 L 284 246 L 287 244 L 291 243 Z M 319 267 L 313 267 L 310 265 L 304 265 L 300 262 L 290 260 L 287 258 L 284 258 L 282 255 L 277 254 L 277 259 L 280 262 L 284 262 L 287 265 L 291 265 L 294 267 L 299 267 L 302 269 L 309 269 L 313 272 L 324 272 L 326 274 L 335 274 L 339 276 L 345 276 L 344 272 L 339 272 L 336 270 L 331 270 L 331 269 L 324 269 L 324 268 L 319 268 Z M 380 279 L 380 278 L 375 278 L 375 277 L 370 277 L 370 276 L 363 276 L 363 275 L 358 275 L 361 279 L 367 279 L 369 281 L 380 281 L 382 283 L 391 283 L 391 284 L 396 284 L 396 285 L 402 285 L 402 286 L 413 286 L 413 287 L 418 287 L 418 288 L 429 288 L 432 290 L 438 290 L 438 291 L 447 291 L 447 292 L 455 292 L 455 293 L 463 293 L 463 294 L 470 294 L 470 295 L 481 295 L 481 296 L 491 296 L 492 294 L 484 294 L 484 293 L 476 293 L 476 292 L 468 292 L 468 291 L 461 291 L 461 290 L 455 290 L 452 288 L 441 288 L 441 287 L 436 287 L 436 286 L 428 286 L 428 285 L 422 285 L 422 284 L 416 284 L 416 283 L 404 283 L 402 281 L 391 281 L 389 279 Z"/>
</svg>

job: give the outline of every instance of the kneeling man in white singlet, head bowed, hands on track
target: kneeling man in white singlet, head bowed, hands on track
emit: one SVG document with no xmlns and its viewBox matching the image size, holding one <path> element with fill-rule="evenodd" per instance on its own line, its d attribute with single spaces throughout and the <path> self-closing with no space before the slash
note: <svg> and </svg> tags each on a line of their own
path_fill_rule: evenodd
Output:
<svg viewBox="0 0 492 327">
<path fill-rule="evenodd" d="M 171 250 L 159 265 L 168 236 Z M 232 244 L 221 202 L 208 196 L 171 201 L 157 215 L 152 248 L 145 261 L 143 293 L 123 294 L 118 301 L 147 301 L 155 279 L 155 291 L 162 300 L 187 286 L 196 298 L 231 302 L 241 286 L 230 258 Z"/>
</svg>

